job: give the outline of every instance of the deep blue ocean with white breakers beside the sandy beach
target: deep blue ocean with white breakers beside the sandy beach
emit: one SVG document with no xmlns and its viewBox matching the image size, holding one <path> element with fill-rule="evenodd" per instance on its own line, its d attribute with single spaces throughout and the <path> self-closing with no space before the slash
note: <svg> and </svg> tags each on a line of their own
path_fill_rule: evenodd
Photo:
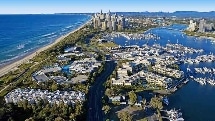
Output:
<svg viewBox="0 0 215 121">
<path fill-rule="evenodd" d="M 54 42 L 91 19 L 88 15 L 0 15 L 0 66 Z"/>
</svg>

